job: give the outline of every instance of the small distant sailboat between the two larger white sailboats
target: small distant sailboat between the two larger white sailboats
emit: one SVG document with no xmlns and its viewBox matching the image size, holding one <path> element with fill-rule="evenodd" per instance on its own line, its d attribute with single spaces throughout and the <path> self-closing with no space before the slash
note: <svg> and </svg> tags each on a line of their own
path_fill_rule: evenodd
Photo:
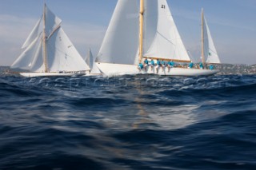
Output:
<svg viewBox="0 0 256 170">
<path fill-rule="evenodd" d="M 101 71 L 98 69 L 98 66 L 95 64 L 95 59 L 90 48 L 86 56 L 86 64 L 90 67 L 90 73 L 86 74 L 86 76 L 102 75 Z"/>
</svg>

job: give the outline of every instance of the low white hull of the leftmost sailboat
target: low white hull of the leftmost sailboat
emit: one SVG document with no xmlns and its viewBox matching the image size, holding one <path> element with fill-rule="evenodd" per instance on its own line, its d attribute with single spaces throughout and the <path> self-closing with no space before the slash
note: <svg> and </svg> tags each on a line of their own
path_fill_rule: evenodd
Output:
<svg viewBox="0 0 256 170">
<path fill-rule="evenodd" d="M 20 73 L 23 77 L 64 77 L 78 76 L 84 73 Z"/>
</svg>

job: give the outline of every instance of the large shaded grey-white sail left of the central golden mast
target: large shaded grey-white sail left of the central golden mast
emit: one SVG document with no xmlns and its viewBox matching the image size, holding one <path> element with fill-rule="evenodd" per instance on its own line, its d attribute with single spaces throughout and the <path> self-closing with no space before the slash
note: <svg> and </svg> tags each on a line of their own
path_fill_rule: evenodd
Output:
<svg viewBox="0 0 256 170">
<path fill-rule="evenodd" d="M 119 0 L 96 61 L 134 65 L 137 53 L 138 1 Z"/>
</svg>

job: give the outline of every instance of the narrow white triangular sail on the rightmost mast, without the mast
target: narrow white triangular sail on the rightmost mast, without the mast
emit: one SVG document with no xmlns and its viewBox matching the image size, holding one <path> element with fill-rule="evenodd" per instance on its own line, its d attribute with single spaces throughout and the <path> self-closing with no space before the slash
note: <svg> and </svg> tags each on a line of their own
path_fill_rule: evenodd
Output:
<svg viewBox="0 0 256 170">
<path fill-rule="evenodd" d="M 207 25 L 206 18 L 203 18 L 204 25 L 204 56 L 207 58 L 207 63 L 221 63 L 218 57 L 217 50 L 214 46 L 213 38 L 210 34 L 209 26 Z"/>
</svg>

